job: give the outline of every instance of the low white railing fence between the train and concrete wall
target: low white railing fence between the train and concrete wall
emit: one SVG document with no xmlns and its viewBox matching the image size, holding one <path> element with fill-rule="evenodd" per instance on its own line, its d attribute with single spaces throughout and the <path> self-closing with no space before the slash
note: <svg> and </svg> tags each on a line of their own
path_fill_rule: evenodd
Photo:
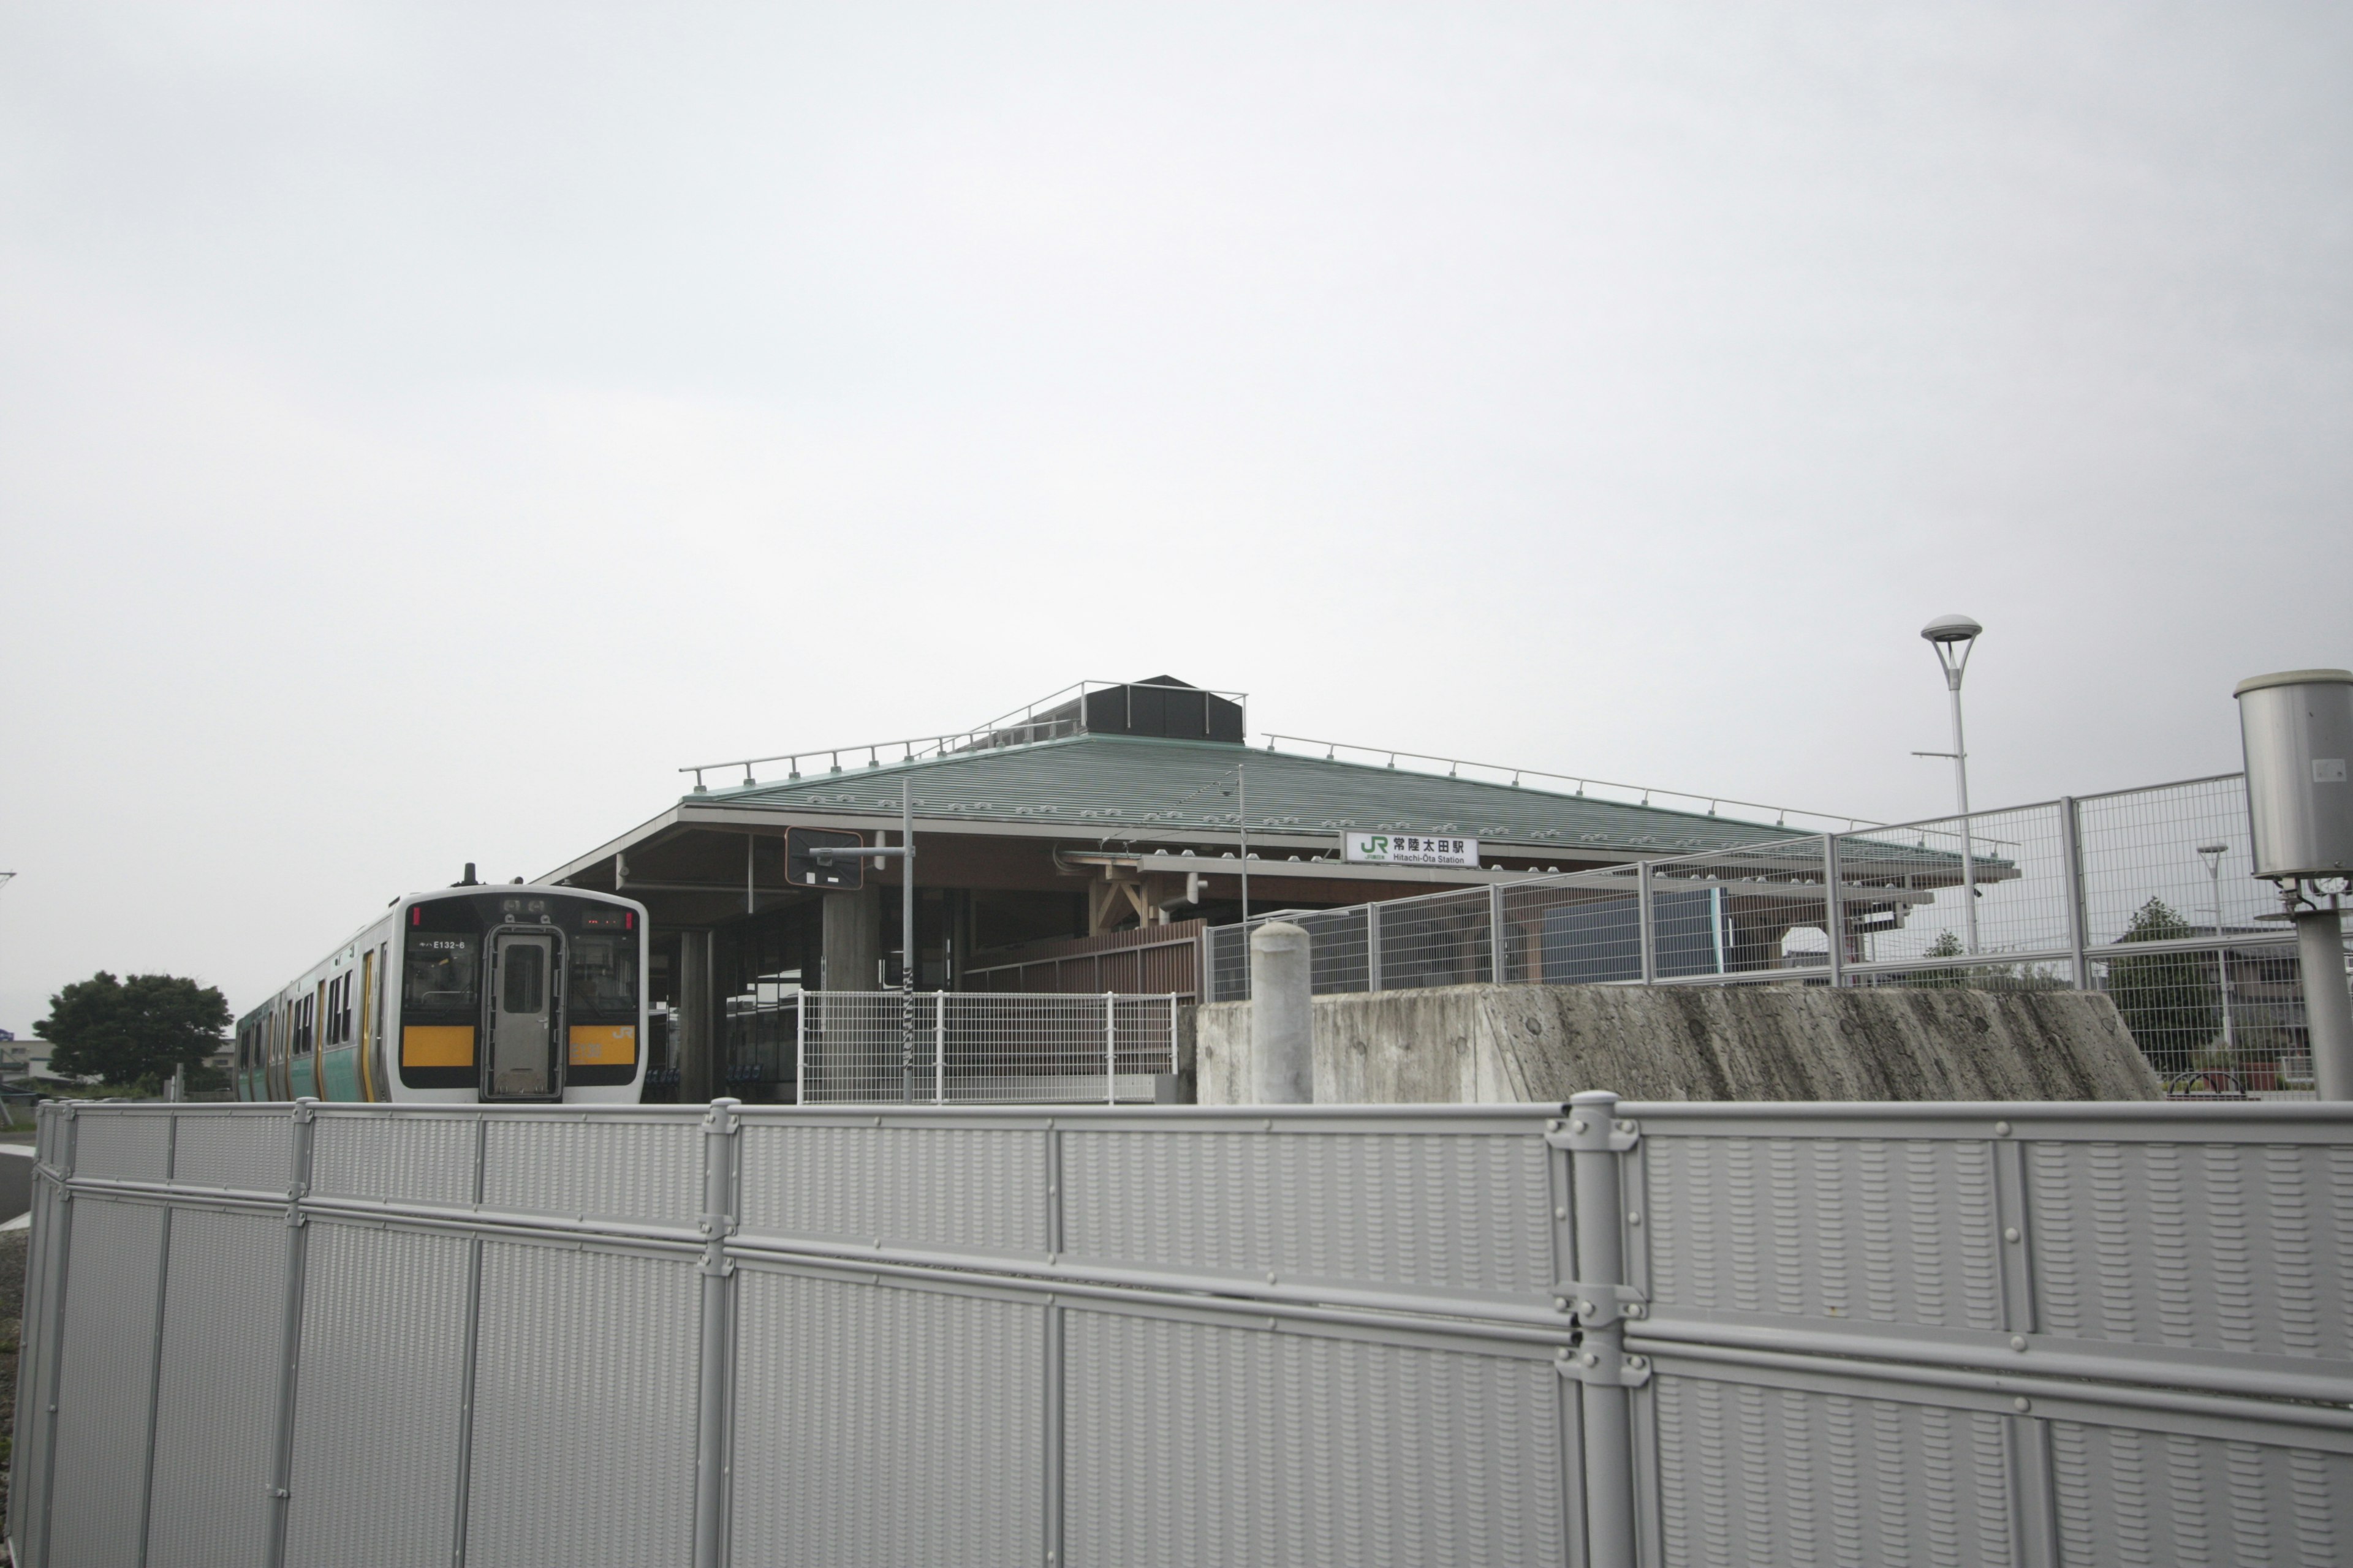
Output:
<svg viewBox="0 0 2353 1568">
<path fill-rule="evenodd" d="M 1176 1072 L 1169 994 L 781 992 L 758 1006 L 762 1027 L 729 1027 L 727 1084 L 744 1098 L 1151 1105 Z"/>
</svg>

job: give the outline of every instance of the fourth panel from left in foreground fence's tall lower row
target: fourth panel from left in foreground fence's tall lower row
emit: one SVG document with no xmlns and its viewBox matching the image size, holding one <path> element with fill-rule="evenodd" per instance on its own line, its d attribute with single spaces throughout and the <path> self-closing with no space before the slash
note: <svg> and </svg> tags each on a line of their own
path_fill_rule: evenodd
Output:
<svg viewBox="0 0 2353 1568">
<path fill-rule="evenodd" d="M 692 1561 L 696 1300 L 685 1258 L 482 1246 L 466 1568 Z"/>
</svg>

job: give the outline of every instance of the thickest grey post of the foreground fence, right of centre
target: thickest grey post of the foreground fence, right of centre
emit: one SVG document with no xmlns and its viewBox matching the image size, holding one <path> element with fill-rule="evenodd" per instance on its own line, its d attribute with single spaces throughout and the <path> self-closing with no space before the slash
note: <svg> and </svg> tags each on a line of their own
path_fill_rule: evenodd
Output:
<svg viewBox="0 0 2353 1568">
<path fill-rule="evenodd" d="M 1645 867 L 1645 877 L 1649 870 Z M 1633 1394 L 1624 1378 L 1640 1375 L 1640 1359 L 1624 1354 L 1626 1331 L 1619 1302 L 1598 1305 L 1598 1293 L 1626 1284 L 1624 1222 L 1619 1192 L 1619 1157 L 1612 1145 L 1631 1147 L 1617 1121 L 1617 1095 L 1588 1088 L 1569 1095 L 1569 1187 L 1577 1204 L 1577 1284 L 1595 1293 L 1581 1300 L 1579 1373 L 1584 1394 L 1586 1458 L 1586 1563 L 1591 1568 L 1635 1568 L 1633 1528 Z"/>
</svg>

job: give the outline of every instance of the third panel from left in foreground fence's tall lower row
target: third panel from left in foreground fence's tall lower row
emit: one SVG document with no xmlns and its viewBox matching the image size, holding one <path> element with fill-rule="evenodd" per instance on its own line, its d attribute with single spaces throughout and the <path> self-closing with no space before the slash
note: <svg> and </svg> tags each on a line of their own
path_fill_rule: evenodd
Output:
<svg viewBox="0 0 2353 1568">
<path fill-rule="evenodd" d="M 433 1128 L 412 1133 L 433 1147 Z M 473 1246 L 311 1220 L 287 1563 L 454 1561 Z"/>
</svg>

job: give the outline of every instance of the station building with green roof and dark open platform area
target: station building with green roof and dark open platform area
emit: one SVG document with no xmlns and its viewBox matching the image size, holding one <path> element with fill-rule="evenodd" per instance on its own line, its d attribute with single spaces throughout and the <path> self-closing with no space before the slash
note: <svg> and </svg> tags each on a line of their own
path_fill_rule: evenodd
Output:
<svg viewBox="0 0 2353 1568">
<path fill-rule="evenodd" d="M 1205 929 L 1242 917 L 1245 877 L 1254 914 L 1325 910 L 1784 832 L 1572 780 L 1395 766 L 1402 752 L 1252 745 L 1245 722 L 1240 693 L 1162 675 L 1082 682 L 948 736 L 687 769 L 692 792 L 541 882 L 647 905 L 652 1081 L 682 1074 L 708 1098 L 779 997 L 899 985 L 906 863 L 871 860 L 859 891 L 795 886 L 793 827 L 896 844 L 911 804 L 918 990 L 1184 999 L 1202 992 Z M 1351 830 L 1475 839 L 1478 863 L 1351 863 Z"/>
</svg>

